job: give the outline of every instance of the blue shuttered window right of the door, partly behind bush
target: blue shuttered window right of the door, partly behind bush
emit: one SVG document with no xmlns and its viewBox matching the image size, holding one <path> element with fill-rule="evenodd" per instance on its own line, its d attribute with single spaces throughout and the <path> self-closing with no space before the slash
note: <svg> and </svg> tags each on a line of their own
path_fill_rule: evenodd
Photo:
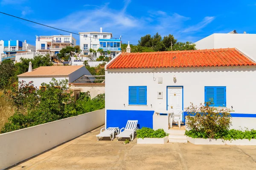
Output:
<svg viewBox="0 0 256 170">
<path fill-rule="evenodd" d="M 213 107 L 226 107 L 226 86 L 205 86 L 204 101 L 212 101 L 210 106 Z"/>
</svg>

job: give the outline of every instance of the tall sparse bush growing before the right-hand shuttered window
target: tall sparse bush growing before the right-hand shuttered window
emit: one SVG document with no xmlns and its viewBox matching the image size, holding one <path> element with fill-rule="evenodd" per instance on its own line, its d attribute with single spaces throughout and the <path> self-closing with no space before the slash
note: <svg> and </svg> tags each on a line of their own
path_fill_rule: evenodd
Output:
<svg viewBox="0 0 256 170">
<path fill-rule="evenodd" d="M 230 109 L 210 107 L 211 103 L 199 106 L 193 103 L 186 108 L 188 116 L 186 116 L 186 126 L 190 132 L 202 138 L 218 139 L 227 133 L 231 125 Z"/>
</svg>

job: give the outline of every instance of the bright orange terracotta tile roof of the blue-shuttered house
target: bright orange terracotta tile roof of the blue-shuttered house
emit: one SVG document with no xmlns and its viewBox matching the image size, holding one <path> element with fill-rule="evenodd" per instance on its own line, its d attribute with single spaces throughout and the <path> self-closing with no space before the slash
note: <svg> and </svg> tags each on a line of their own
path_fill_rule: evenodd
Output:
<svg viewBox="0 0 256 170">
<path fill-rule="evenodd" d="M 192 51 L 162 51 L 122 53 L 114 59 L 111 68 L 177 68 L 256 65 L 236 48 Z"/>
</svg>

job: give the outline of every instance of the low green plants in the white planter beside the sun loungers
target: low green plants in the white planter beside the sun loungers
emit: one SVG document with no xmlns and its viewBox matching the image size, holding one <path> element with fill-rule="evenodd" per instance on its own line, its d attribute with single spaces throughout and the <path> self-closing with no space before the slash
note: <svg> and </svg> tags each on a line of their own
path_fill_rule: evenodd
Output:
<svg viewBox="0 0 256 170">
<path fill-rule="evenodd" d="M 141 129 L 137 130 L 137 138 L 163 138 L 168 136 L 169 134 L 166 133 L 163 129 L 153 130 L 149 127 L 142 127 Z"/>
</svg>

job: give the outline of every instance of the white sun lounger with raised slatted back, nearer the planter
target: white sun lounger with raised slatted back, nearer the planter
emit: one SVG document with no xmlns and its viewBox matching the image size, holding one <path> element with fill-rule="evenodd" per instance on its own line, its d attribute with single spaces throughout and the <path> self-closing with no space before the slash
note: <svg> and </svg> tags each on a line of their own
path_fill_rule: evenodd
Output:
<svg viewBox="0 0 256 170">
<path fill-rule="evenodd" d="M 137 131 L 137 120 L 128 120 L 126 127 L 120 129 L 120 133 L 116 135 L 116 139 L 119 140 L 120 138 L 130 138 L 131 141 L 134 139 L 134 133 Z M 122 131 L 123 130 L 123 131 Z"/>
</svg>

